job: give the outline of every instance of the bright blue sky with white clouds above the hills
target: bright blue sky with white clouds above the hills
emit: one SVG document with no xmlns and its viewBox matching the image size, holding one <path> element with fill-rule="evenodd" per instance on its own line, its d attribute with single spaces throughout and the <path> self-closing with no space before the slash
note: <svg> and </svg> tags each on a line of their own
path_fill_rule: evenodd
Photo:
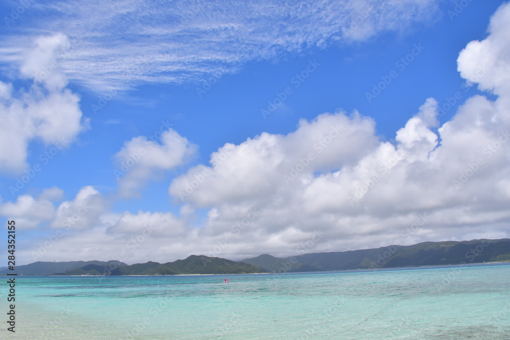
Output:
<svg viewBox="0 0 510 340">
<path fill-rule="evenodd" d="M 510 236 L 510 4 L 3 1 L 17 265 Z"/>
</svg>

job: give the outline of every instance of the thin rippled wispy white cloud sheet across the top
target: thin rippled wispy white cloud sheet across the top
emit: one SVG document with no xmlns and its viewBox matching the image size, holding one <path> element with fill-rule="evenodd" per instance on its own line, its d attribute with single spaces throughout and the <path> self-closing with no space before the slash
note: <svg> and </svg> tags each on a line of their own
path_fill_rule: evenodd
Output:
<svg viewBox="0 0 510 340">
<path fill-rule="evenodd" d="M 305 48 L 338 41 L 361 41 L 385 31 L 403 31 L 438 14 L 438 0 L 244 1 L 167 3 L 139 0 L 86 4 L 38 4 L 39 22 L 5 38 L 0 49 L 8 64 L 18 63 L 16 49 L 25 37 L 66 32 L 78 38 L 62 61 L 63 72 L 94 91 L 132 88 L 144 83 L 199 82 L 210 74 L 235 72 L 250 60 L 274 59 Z M 58 13 L 55 15 L 55 13 Z M 285 25 L 275 25 L 282 18 Z M 30 20 L 27 18 L 27 20 Z M 11 32 L 15 32 L 15 27 Z M 90 32 L 90 33 L 84 33 Z M 225 43 L 228 42 L 228 43 Z M 54 36 L 44 45 L 66 44 Z M 50 47 L 38 47 L 43 54 Z M 189 56 L 193 56 L 190 60 Z M 34 54 L 31 65 L 40 64 Z M 34 67 L 24 72 L 37 74 Z M 60 84 L 51 77 L 48 84 Z"/>
</svg>

